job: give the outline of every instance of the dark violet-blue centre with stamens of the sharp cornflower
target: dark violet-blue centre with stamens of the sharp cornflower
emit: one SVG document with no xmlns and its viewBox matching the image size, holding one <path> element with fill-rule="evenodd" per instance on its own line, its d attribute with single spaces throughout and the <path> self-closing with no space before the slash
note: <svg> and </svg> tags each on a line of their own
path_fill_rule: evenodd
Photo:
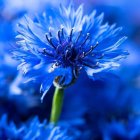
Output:
<svg viewBox="0 0 140 140">
<path fill-rule="evenodd" d="M 82 60 L 93 51 L 98 43 L 85 51 L 84 45 L 89 40 L 90 34 L 87 33 L 87 35 L 83 37 L 82 31 L 80 31 L 75 40 L 73 36 L 73 29 L 71 29 L 69 36 L 66 36 L 62 28 L 57 32 L 57 39 L 52 37 L 51 32 L 47 33 L 46 39 L 54 51 L 51 52 L 44 49 L 42 51 L 43 54 L 53 57 L 55 66 L 81 67 L 83 65 Z"/>
</svg>

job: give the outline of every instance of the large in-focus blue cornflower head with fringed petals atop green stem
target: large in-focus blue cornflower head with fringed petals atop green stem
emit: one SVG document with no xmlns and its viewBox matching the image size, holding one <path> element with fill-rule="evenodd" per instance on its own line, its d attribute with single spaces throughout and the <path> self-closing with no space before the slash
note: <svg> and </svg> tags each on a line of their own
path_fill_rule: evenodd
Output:
<svg viewBox="0 0 140 140">
<path fill-rule="evenodd" d="M 118 48 L 126 40 L 122 28 L 103 24 L 103 14 L 83 14 L 70 4 L 31 19 L 26 16 L 18 24 L 18 44 L 14 55 L 21 61 L 21 69 L 30 80 L 41 81 L 45 93 L 52 83 L 67 87 L 84 69 L 94 79 L 94 73 L 119 66 L 118 60 L 127 52 Z"/>
</svg>

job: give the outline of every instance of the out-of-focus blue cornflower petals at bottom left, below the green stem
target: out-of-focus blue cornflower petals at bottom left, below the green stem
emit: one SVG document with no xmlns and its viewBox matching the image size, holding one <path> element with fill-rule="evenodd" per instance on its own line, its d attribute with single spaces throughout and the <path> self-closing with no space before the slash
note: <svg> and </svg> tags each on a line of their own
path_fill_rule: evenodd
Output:
<svg viewBox="0 0 140 140">
<path fill-rule="evenodd" d="M 7 121 L 7 115 L 0 119 L 0 139 L 21 139 L 21 140 L 78 140 L 84 136 L 80 130 L 68 123 L 60 123 L 57 126 L 42 123 L 37 117 L 21 125 L 19 128 L 14 122 Z"/>
</svg>

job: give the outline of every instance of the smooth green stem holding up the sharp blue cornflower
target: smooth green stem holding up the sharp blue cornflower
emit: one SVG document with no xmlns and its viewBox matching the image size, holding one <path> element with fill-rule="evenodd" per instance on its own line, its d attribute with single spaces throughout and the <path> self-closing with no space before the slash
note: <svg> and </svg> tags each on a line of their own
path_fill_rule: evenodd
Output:
<svg viewBox="0 0 140 140">
<path fill-rule="evenodd" d="M 53 96 L 50 122 L 56 124 L 59 120 L 64 98 L 64 89 L 56 88 Z"/>
</svg>

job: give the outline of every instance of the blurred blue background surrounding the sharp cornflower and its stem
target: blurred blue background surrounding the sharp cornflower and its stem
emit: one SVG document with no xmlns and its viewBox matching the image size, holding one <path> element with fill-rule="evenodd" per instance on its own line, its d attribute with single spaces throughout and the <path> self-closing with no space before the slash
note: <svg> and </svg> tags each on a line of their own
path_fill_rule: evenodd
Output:
<svg viewBox="0 0 140 140">
<path fill-rule="evenodd" d="M 67 1 L 62 1 L 67 3 Z M 83 72 L 75 85 L 65 91 L 61 121 L 84 121 L 81 131 L 89 129 L 93 139 L 140 139 L 140 1 L 139 0 L 75 0 L 75 7 L 84 4 L 85 13 L 96 9 L 104 13 L 104 22 L 123 27 L 128 36 L 123 47 L 130 55 L 122 60 L 118 70 L 97 79 L 88 79 Z M 17 126 L 34 116 L 49 119 L 52 87 L 44 102 L 40 102 L 39 84 L 25 84 L 12 58 L 15 48 L 16 24 L 24 14 L 42 12 L 60 1 L 0 0 L 0 117 Z M 106 130 L 106 131 L 105 131 Z"/>
</svg>

